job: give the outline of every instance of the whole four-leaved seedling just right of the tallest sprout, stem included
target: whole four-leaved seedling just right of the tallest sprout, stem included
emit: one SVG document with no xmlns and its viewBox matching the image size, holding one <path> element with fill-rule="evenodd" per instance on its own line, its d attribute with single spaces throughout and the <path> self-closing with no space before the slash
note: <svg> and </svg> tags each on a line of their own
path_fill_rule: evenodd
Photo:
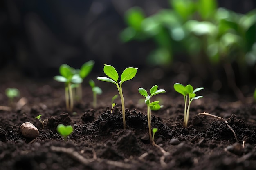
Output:
<svg viewBox="0 0 256 170">
<path fill-rule="evenodd" d="M 152 96 L 165 93 L 166 91 L 164 89 L 157 90 L 158 86 L 155 85 L 150 89 L 150 95 L 148 95 L 148 92 L 144 88 L 139 88 L 139 93 L 143 95 L 146 100 L 145 103 L 148 106 L 147 114 L 148 114 L 148 130 L 149 130 L 149 139 L 152 142 L 152 134 L 151 134 L 151 110 L 159 110 L 161 106 L 159 105 L 159 101 L 150 102 L 150 99 Z"/>
</svg>

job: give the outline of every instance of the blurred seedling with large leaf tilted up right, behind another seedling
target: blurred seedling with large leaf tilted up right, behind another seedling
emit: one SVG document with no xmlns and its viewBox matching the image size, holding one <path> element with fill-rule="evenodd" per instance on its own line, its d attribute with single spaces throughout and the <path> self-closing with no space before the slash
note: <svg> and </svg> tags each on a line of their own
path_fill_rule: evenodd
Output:
<svg viewBox="0 0 256 170">
<path fill-rule="evenodd" d="M 94 66 L 94 60 L 90 60 L 88 62 L 85 62 L 80 69 L 76 69 L 76 73 L 78 74 L 81 79 L 85 79 L 85 77 L 87 77 L 89 75 L 89 73 L 92 71 L 92 68 Z M 76 88 L 75 88 L 75 96 L 76 96 L 76 100 L 77 101 L 81 101 L 82 99 L 82 86 L 81 83 L 77 84 Z"/>
</svg>

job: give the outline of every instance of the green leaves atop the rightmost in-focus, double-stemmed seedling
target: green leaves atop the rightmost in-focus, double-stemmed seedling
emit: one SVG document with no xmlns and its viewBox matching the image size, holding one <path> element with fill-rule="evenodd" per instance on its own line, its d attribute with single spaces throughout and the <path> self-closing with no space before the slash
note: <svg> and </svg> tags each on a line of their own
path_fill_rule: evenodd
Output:
<svg viewBox="0 0 256 170">
<path fill-rule="evenodd" d="M 199 87 L 194 90 L 193 86 L 191 86 L 190 84 L 184 86 L 183 84 L 180 84 L 180 83 L 175 83 L 173 87 L 175 91 L 182 94 L 184 97 L 186 97 L 186 95 L 189 95 L 189 99 L 193 100 L 193 99 L 199 99 L 203 97 L 203 96 L 196 96 L 195 94 L 195 92 L 198 92 L 204 89 L 203 87 Z"/>
</svg>

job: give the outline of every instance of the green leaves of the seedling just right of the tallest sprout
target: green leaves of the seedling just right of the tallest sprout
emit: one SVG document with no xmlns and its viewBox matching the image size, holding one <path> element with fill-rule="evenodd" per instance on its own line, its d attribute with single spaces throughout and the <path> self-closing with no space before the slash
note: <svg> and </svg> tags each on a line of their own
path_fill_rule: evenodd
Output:
<svg viewBox="0 0 256 170">
<path fill-rule="evenodd" d="M 164 89 L 157 90 L 157 88 L 158 88 L 157 85 L 153 86 L 150 89 L 150 95 L 148 95 L 148 92 L 144 88 L 139 88 L 139 93 L 146 98 L 146 100 L 145 100 L 146 105 L 149 105 L 150 109 L 151 110 L 155 110 L 155 111 L 159 110 L 161 108 L 161 106 L 158 104 L 159 101 L 154 101 L 154 102 L 150 103 L 150 98 L 153 95 L 157 95 L 157 94 L 165 93 L 166 92 Z"/>
</svg>

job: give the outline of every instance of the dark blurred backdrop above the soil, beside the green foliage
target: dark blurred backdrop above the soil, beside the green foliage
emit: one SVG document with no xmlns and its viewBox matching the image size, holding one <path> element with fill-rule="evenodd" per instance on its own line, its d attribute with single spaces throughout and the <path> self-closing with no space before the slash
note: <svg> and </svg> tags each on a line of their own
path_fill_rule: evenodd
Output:
<svg viewBox="0 0 256 170">
<path fill-rule="evenodd" d="M 219 7 L 247 13 L 255 0 L 218 0 Z M 61 64 L 79 68 L 93 59 L 123 70 L 145 68 L 151 42 L 121 43 L 123 16 L 133 6 L 147 15 L 170 7 L 168 0 L 2 0 L 0 69 L 16 68 L 29 77 L 52 77 Z"/>
</svg>

